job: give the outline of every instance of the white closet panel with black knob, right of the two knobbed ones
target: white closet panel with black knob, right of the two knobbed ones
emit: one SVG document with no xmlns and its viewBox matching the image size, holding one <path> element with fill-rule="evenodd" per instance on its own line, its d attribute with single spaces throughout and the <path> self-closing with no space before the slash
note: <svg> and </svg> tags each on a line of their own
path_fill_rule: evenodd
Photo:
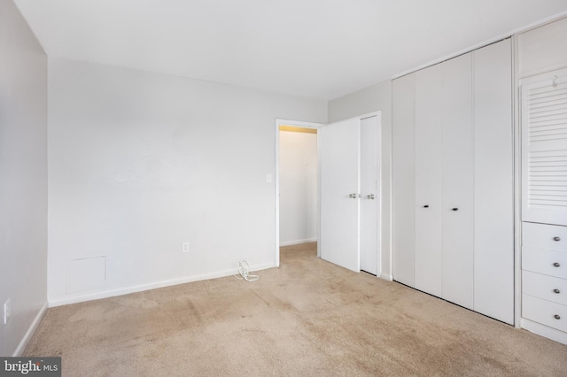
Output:
<svg viewBox="0 0 567 377">
<path fill-rule="evenodd" d="M 443 104 L 443 295 L 473 307 L 474 139 L 472 53 L 441 65 Z"/>
</svg>

